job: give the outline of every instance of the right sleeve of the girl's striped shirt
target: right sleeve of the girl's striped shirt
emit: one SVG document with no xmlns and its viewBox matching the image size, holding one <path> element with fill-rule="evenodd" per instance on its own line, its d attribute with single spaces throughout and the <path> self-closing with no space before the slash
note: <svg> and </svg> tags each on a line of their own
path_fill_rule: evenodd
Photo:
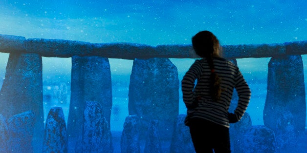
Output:
<svg viewBox="0 0 307 153">
<path fill-rule="evenodd" d="M 234 112 L 235 114 L 234 119 L 236 122 L 236 121 L 241 120 L 242 116 L 244 115 L 247 109 L 247 106 L 250 100 L 250 96 L 251 96 L 251 91 L 244 77 L 242 76 L 239 68 L 237 69 L 237 75 L 236 75 L 235 81 L 236 81 L 235 88 L 239 96 L 238 106 Z"/>
</svg>

